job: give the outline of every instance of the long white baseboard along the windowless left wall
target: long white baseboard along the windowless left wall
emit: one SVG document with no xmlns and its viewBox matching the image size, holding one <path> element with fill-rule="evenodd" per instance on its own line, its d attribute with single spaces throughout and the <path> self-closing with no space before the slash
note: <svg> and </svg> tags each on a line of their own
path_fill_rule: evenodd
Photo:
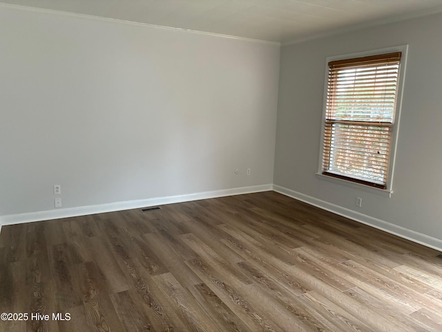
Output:
<svg viewBox="0 0 442 332">
<path fill-rule="evenodd" d="M 28 212 L 21 214 L 9 214 L 6 216 L 0 216 L 0 232 L 1 232 L 1 225 L 11 225 L 15 223 L 30 223 L 32 221 L 68 218 L 70 216 L 84 216 L 87 214 L 146 208 L 155 205 L 182 203 L 187 201 L 198 201 L 199 199 L 213 199 L 215 197 L 222 197 L 222 196 L 250 194 L 252 192 L 267 192 L 269 190 L 272 190 L 272 187 L 273 186 L 271 184 L 253 185 L 251 187 L 238 187 L 232 189 L 214 190 L 211 192 L 197 192 L 194 194 L 177 195 L 177 196 L 154 197 L 152 199 L 140 199 L 136 201 L 123 201 L 123 202 L 106 203 L 99 205 L 79 206 L 76 208 Z"/>
</svg>

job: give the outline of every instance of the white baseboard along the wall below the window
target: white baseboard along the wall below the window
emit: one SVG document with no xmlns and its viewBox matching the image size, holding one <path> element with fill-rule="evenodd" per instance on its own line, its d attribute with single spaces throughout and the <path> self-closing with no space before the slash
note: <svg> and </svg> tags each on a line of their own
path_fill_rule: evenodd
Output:
<svg viewBox="0 0 442 332">
<path fill-rule="evenodd" d="M 436 239 L 435 237 L 430 237 L 428 235 L 416 232 L 414 230 L 409 230 L 407 228 L 394 225 L 394 223 L 389 223 L 381 219 L 373 218 L 372 216 L 367 216 L 366 214 L 362 214 L 353 210 L 349 210 L 347 208 L 343 208 L 339 205 L 328 203 L 320 199 L 315 199 L 314 197 L 301 194 L 300 192 L 295 192 L 294 190 L 290 190 L 285 187 L 281 187 L 279 185 L 273 185 L 273 190 L 275 192 L 279 192 L 280 194 L 284 194 L 291 198 L 298 199 L 298 201 L 314 205 L 317 208 L 321 208 L 323 210 L 339 214 L 340 216 L 345 216 L 346 218 L 358 221 L 365 225 L 372 226 L 374 228 L 377 228 L 378 230 L 383 230 L 387 233 L 397 235 L 398 237 L 402 237 L 403 239 L 407 239 L 422 244 L 423 246 L 427 246 L 442 251 L 441 239 Z"/>
</svg>

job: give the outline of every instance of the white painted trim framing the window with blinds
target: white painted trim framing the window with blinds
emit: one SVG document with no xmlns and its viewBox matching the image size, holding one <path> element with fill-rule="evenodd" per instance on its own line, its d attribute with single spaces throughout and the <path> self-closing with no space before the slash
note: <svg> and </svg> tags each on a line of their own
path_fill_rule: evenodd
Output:
<svg viewBox="0 0 442 332">
<path fill-rule="evenodd" d="M 380 48 L 376 50 L 369 50 L 365 52 L 359 52 L 359 53 L 350 53 L 345 55 L 334 55 L 327 57 L 325 59 L 325 75 L 324 75 L 324 95 L 323 95 L 323 116 L 321 117 L 321 131 L 320 131 L 320 148 L 319 148 L 319 159 L 318 159 L 318 172 L 316 173 L 318 178 L 321 179 L 333 179 L 333 183 L 339 183 L 342 185 L 349 186 L 349 183 L 351 183 L 351 187 L 359 187 L 361 189 L 363 188 L 372 188 L 374 189 L 373 192 L 385 192 L 388 196 L 391 196 L 393 192 L 393 180 L 394 180 L 394 168 L 396 163 L 396 148 L 398 143 L 398 132 L 399 132 L 399 125 L 401 121 L 401 108 L 402 108 L 402 100 L 403 100 L 403 87 L 404 87 L 404 80 L 405 80 L 405 73 L 406 73 L 406 66 L 407 66 L 407 52 L 408 51 L 408 45 L 401 45 L 401 46 L 393 46 L 389 48 Z M 354 59 L 358 57 L 370 57 L 374 55 L 381 55 L 386 53 L 395 53 L 395 52 L 401 52 L 401 66 L 399 68 L 399 80 L 398 80 L 398 90 L 397 90 L 397 96 L 396 96 L 396 109 L 395 109 L 395 115 L 394 120 L 392 122 L 392 140 L 391 140 L 391 151 L 390 151 L 390 164 L 388 167 L 388 178 L 387 178 L 387 184 L 385 189 L 380 189 L 376 187 L 372 187 L 372 185 L 367 185 L 363 183 L 358 183 L 351 181 L 349 179 L 345 178 L 338 178 L 334 176 L 329 176 L 327 174 L 323 174 L 323 150 L 324 150 L 324 131 L 325 131 L 325 118 L 327 114 L 327 87 L 328 87 L 328 73 L 329 73 L 329 62 L 334 61 L 340 61 L 345 59 Z"/>
</svg>

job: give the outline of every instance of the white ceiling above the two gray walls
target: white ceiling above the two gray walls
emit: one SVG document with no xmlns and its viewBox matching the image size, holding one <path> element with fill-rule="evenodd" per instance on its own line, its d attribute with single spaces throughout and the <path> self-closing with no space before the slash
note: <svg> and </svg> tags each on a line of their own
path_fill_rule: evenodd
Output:
<svg viewBox="0 0 442 332">
<path fill-rule="evenodd" d="M 0 0 L 287 44 L 442 12 L 442 0 Z"/>
</svg>

